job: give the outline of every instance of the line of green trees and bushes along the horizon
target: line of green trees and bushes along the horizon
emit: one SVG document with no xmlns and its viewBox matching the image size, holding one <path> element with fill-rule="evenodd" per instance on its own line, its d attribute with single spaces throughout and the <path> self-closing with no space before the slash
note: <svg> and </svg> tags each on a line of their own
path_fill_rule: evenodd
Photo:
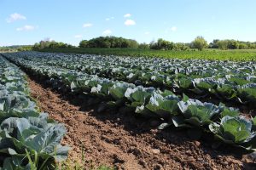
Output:
<svg viewBox="0 0 256 170">
<path fill-rule="evenodd" d="M 43 48 L 75 48 L 73 45 L 64 42 L 40 41 L 34 44 L 33 50 Z M 194 41 L 189 43 L 170 42 L 159 38 L 150 43 L 138 43 L 136 40 L 126 39 L 124 37 L 96 37 L 90 40 L 79 42 L 79 48 L 140 48 L 156 50 L 175 50 L 185 51 L 189 49 L 202 50 L 204 48 L 219 49 L 253 49 L 256 48 L 256 42 L 242 42 L 237 40 L 218 40 L 215 39 L 208 43 L 204 37 L 195 37 Z"/>
</svg>

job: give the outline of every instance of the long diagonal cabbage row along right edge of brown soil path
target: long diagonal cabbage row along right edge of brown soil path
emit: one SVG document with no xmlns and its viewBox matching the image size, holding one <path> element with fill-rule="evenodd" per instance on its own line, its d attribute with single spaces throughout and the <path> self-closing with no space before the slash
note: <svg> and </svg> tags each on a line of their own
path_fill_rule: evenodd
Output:
<svg viewBox="0 0 256 170">
<path fill-rule="evenodd" d="M 223 104 L 202 103 L 185 95 L 182 99 L 168 90 L 144 88 L 128 82 L 44 65 L 33 59 L 19 58 L 16 54 L 5 54 L 5 57 L 34 76 L 48 79 L 58 88 L 95 95 L 108 101 L 108 105 L 125 105 L 138 116 L 164 120 L 159 128 L 187 127 L 190 136 L 198 137 L 202 132 L 213 133 L 218 142 L 235 145 L 242 150 L 256 150 L 256 118 L 245 118 L 234 108 Z"/>
</svg>

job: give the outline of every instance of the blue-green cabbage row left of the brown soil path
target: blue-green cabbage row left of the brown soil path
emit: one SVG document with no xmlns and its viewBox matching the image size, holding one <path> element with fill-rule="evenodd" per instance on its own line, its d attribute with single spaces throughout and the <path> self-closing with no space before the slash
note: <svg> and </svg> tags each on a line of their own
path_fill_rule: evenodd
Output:
<svg viewBox="0 0 256 170">
<path fill-rule="evenodd" d="M 25 74 L 0 56 L 0 169 L 54 169 L 67 158 L 63 124 L 40 113 Z"/>
</svg>

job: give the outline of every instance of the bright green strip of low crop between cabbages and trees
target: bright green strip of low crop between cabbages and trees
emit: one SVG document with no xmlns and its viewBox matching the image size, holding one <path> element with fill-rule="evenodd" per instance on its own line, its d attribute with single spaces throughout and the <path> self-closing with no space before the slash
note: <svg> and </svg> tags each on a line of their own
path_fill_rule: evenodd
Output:
<svg viewBox="0 0 256 170">
<path fill-rule="evenodd" d="M 256 49 L 219 50 L 205 49 L 203 51 L 164 51 L 134 48 L 44 48 L 41 52 L 66 54 L 102 54 L 119 56 L 147 56 L 166 59 L 218 59 L 218 60 L 256 60 Z"/>
</svg>

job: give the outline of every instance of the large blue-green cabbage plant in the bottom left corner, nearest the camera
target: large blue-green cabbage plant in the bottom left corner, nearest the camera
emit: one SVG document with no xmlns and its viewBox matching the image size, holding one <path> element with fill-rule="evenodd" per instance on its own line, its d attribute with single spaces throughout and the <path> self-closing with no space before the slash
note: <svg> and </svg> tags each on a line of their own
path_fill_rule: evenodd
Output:
<svg viewBox="0 0 256 170">
<path fill-rule="evenodd" d="M 48 123 L 45 114 L 28 119 L 9 117 L 0 127 L 0 153 L 6 155 L 3 162 L 12 159 L 14 166 L 27 166 L 29 153 L 37 156 L 39 163 L 47 161 L 46 168 L 67 158 L 69 148 L 60 144 L 66 129 L 61 124 Z"/>
</svg>

